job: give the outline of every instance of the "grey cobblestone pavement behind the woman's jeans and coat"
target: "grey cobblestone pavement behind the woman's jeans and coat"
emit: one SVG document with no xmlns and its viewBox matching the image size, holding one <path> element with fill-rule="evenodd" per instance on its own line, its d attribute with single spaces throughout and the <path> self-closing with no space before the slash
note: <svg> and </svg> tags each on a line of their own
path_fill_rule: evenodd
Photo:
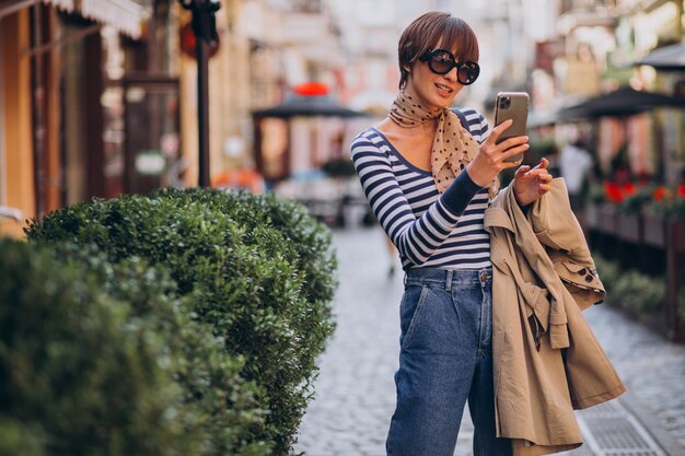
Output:
<svg viewBox="0 0 685 456">
<path fill-rule="evenodd" d="M 336 231 L 340 287 L 337 330 L 321 359 L 315 399 L 295 453 L 383 456 L 394 409 L 398 305 L 403 274 L 387 277 L 379 227 Z M 685 455 L 685 347 L 665 341 L 607 305 L 585 311 L 628 387 L 619 400 L 578 413 L 585 445 L 565 456 Z M 464 414 L 455 456 L 469 456 L 473 425 Z M 651 446 L 650 446 L 651 445 Z"/>
</svg>

